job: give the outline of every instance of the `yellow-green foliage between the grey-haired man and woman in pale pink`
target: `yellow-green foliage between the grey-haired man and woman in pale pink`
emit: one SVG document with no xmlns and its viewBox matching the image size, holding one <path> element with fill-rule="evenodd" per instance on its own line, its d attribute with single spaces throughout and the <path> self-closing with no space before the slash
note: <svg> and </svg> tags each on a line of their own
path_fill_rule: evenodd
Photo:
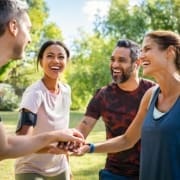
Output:
<svg viewBox="0 0 180 180">
<path fill-rule="evenodd" d="M 61 29 L 54 23 L 48 22 L 49 9 L 44 0 L 27 0 L 29 15 L 32 21 L 32 42 L 27 46 L 26 57 L 23 60 L 10 61 L 0 68 L 0 81 L 11 84 L 18 95 L 40 77 L 35 60 L 40 45 L 47 39 L 62 40 Z"/>
</svg>

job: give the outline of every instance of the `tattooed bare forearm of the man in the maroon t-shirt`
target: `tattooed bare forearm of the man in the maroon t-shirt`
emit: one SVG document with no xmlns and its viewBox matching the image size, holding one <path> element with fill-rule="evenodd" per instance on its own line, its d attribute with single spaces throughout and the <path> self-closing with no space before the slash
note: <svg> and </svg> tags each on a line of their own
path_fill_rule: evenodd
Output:
<svg viewBox="0 0 180 180">
<path fill-rule="evenodd" d="M 76 129 L 79 130 L 84 135 L 84 138 L 86 138 L 93 129 L 96 122 L 97 122 L 96 119 L 90 116 L 84 116 L 80 121 L 80 123 L 77 125 Z"/>
</svg>

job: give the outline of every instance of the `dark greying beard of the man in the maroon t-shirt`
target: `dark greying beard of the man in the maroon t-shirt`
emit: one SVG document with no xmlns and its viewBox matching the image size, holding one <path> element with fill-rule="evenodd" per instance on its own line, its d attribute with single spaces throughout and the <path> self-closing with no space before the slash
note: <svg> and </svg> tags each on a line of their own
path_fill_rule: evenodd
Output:
<svg viewBox="0 0 180 180">
<path fill-rule="evenodd" d="M 128 81 L 132 72 L 133 72 L 132 66 L 127 68 L 126 71 L 124 69 L 122 69 L 121 75 L 113 75 L 113 72 L 111 71 L 113 82 L 115 82 L 116 84 L 120 84 L 120 83 L 124 83 L 124 82 Z"/>
</svg>

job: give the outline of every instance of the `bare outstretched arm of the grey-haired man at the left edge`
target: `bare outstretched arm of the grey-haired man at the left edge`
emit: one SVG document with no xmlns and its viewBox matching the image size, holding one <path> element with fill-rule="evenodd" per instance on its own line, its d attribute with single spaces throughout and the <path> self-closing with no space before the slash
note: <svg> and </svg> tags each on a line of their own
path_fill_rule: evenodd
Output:
<svg viewBox="0 0 180 180">
<path fill-rule="evenodd" d="M 0 160 L 7 158 L 16 158 L 36 152 L 53 142 L 84 142 L 81 133 L 79 133 L 75 129 L 51 131 L 35 136 L 6 137 L 2 124 L 0 124 L 0 135 Z"/>
</svg>

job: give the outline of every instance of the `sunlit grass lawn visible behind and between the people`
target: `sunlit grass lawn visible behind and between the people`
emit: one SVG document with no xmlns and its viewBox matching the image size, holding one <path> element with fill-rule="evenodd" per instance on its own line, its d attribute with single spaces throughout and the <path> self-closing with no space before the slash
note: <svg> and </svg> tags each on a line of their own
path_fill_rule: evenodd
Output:
<svg viewBox="0 0 180 180">
<path fill-rule="evenodd" d="M 14 133 L 18 114 L 17 112 L 0 112 L 4 126 L 8 133 Z M 70 127 L 75 127 L 83 114 L 71 112 Z M 105 132 L 102 121 L 98 121 L 88 137 L 89 142 L 104 140 Z M 104 167 L 105 154 L 86 154 L 81 157 L 70 157 L 70 165 L 74 180 L 98 180 L 98 172 Z M 0 180 L 14 180 L 14 160 L 0 161 Z"/>
</svg>

